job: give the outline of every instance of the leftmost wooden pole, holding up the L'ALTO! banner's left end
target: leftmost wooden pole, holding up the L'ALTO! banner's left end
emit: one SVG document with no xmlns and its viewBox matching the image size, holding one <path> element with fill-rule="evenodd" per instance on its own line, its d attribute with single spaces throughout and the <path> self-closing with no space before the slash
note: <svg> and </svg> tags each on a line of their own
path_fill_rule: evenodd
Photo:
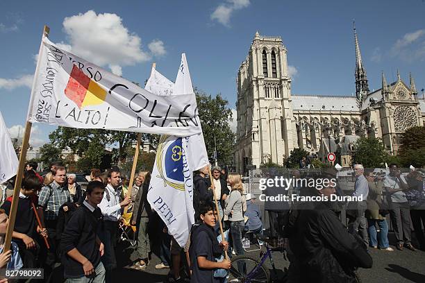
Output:
<svg viewBox="0 0 425 283">
<path fill-rule="evenodd" d="M 50 31 L 49 26 L 44 26 L 43 37 L 49 35 L 49 31 Z M 41 46 L 40 46 L 40 51 L 41 51 Z M 40 55 L 40 52 L 39 52 L 39 55 Z M 38 65 L 39 63 L 37 63 L 37 67 L 35 68 L 35 76 L 37 76 L 38 74 Z M 6 231 L 6 237 L 4 239 L 3 253 L 10 250 L 10 244 L 12 241 L 12 233 L 13 233 L 13 229 L 15 228 L 15 219 L 16 219 L 18 200 L 19 200 L 19 191 L 21 190 L 22 176 L 24 175 L 26 151 L 28 150 L 29 137 L 31 134 L 31 126 L 32 126 L 32 123 L 29 121 L 26 121 L 24 139 L 22 139 L 21 154 L 19 155 L 19 167 L 16 174 L 15 189 L 13 189 L 12 205 L 10 207 L 10 213 L 9 213 L 9 224 L 8 224 L 8 229 Z"/>
</svg>

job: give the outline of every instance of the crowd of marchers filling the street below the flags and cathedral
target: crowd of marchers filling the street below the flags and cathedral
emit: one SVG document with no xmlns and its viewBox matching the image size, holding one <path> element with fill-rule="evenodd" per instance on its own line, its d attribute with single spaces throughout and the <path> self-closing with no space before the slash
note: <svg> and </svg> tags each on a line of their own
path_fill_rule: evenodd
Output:
<svg viewBox="0 0 425 283">
<path fill-rule="evenodd" d="M 76 175 L 67 173 L 60 162 L 51 164 L 44 176 L 36 170 L 37 164 L 26 166 L 12 248 L 0 256 L 0 264 L 44 268 L 47 282 L 52 276 L 58 280 L 57 271 L 67 282 L 112 282 L 117 268 L 117 232 L 122 225 L 133 228 L 137 239 L 129 268 L 147 268 L 153 248 L 159 247 L 160 262 L 155 268 L 169 268 L 169 282 L 226 282 L 226 272 L 217 273 L 231 267 L 231 261 L 223 258 L 224 250 L 230 256 L 243 255 L 244 234 L 263 234 L 256 196 L 246 194 L 241 175 L 226 173 L 218 166 L 211 169 L 211 178 L 208 166 L 194 172 L 196 224 L 184 247 L 168 234 L 167 226 L 149 205 L 150 172 L 138 172 L 134 184 L 128 184 L 122 181 L 118 167 L 105 172 L 92 169 L 84 190 Z M 364 201 L 347 210 L 348 229 L 340 221 L 338 203 L 265 203 L 269 237 L 288 239 L 288 282 L 356 282 L 356 268 L 372 267 L 368 246 L 393 250 L 387 239 L 388 213 L 397 249 L 416 250 L 411 243 L 410 219 L 419 248 L 425 247 L 422 174 L 413 171 L 404 178 L 395 164 L 386 176 L 365 172 L 361 164 L 356 164 L 354 171 L 353 195 Z M 299 171 L 293 173 L 301 178 Z M 281 193 L 274 190 L 268 188 L 266 194 Z M 292 191 L 303 196 L 340 194 L 338 184 L 322 189 L 295 186 Z M 6 232 L 12 197 L 3 198 L 2 203 L 0 234 Z M 225 239 L 221 239 L 220 226 L 228 230 Z"/>
</svg>

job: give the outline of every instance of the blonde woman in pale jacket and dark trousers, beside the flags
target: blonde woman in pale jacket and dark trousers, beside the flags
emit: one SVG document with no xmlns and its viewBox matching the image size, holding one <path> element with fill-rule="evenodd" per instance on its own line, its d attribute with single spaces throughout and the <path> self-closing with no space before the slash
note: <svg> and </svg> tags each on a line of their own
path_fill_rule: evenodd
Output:
<svg viewBox="0 0 425 283">
<path fill-rule="evenodd" d="M 244 231 L 244 214 L 242 211 L 244 188 L 242 187 L 242 178 L 238 173 L 230 173 L 227 178 L 228 184 L 231 186 L 231 192 L 226 199 L 226 208 L 224 215 L 230 221 L 230 233 L 233 241 L 233 248 L 236 255 L 243 255 L 244 248 L 242 246 L 242 231 Z"/>
</svg>

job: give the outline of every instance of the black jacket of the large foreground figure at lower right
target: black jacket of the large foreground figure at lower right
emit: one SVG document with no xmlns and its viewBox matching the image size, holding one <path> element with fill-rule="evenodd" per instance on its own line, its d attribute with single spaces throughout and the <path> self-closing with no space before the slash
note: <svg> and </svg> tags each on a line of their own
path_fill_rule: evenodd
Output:
<svg viewBox="0 0 425 283">
<path fill-rule="evenodd" d="M 347 232 L 327 203 L 299 210 L 291 221 L 289 282 L 356 282 L 358 267 L 372 268 L 360 239 Z"/>
</svg>

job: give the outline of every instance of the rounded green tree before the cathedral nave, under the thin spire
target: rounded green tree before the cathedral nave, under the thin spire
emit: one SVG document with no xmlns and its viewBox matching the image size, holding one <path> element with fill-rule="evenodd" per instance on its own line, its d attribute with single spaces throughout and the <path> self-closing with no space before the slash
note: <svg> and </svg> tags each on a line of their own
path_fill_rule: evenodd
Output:
<svg viewBox="0 0 425 283">
<path fill-rule="evenodd" d="M 387 160 L 388 153 L 381 139 L 361 137 L 354 145 L 352 164 L 363 164 L 365 168 L 381 167 Z"/>
</svg>

